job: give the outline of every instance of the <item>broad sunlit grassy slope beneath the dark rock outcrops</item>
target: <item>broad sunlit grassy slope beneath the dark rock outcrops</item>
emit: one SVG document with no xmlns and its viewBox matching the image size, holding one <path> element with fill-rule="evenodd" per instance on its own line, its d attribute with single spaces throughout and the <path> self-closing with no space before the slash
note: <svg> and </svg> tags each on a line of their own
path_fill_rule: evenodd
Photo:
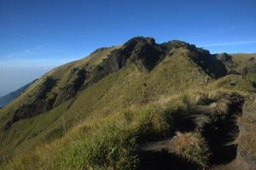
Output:
<svg viewBox="0 0 256 170">
<path fill-rule="evenodd" d="M 181 53 L 166 58 L 150 73 L 129 65 L 87 88 L 75 100 L 42 115 L 16 122 L 9 130 L 0 133 L 3 139 L 1 151 L 19 153 L 34 144 L 51 141 L 73 124 L 83 122 L 87 116 L 105 116 L 162 96 L 189 92 L 203 87 L 207 79 L 209 77 Z"/>
</svg>

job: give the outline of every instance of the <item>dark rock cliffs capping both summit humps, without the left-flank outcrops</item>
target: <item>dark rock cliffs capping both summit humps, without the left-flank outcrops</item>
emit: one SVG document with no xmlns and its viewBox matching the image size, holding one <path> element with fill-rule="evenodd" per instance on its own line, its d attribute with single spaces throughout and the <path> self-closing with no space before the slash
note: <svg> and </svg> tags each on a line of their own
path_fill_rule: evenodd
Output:
<svg viewBox="0 0 256 170">
<path fill-rule="evenodd" d="M 119 71 L 129 62 L 135 63 L 139 71 L 151 71 L 162 59 L 172 56 L 176 50 L 187 51 L 188 58 L 212 77 L 222 77 L 227 73 L 224 65 L 209 51 L 196 48 L 189 43 L 171 41 L 157 44 L 151 37 L 134 37 L 125 42 L 122 48 L 113 50 L 108 58 L 96 67 L 91 82 Z"/>
</svg>

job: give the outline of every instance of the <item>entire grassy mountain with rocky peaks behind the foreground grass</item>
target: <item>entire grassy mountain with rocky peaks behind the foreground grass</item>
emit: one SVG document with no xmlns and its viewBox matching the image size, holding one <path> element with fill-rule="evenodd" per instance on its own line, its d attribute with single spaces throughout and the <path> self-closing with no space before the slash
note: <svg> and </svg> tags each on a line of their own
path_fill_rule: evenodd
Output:
<svg viewBox="0 0 256 170">
<path fill-rule="evenodd" d="M 19 150 L 32 145 L 31 140 L 60 136 L 63 120 L 71 127 L 88 115 L 108 114 L 203 87 L 212 80 L 201 66 L 207 57 L 212 56 L 185 42 L 156 44 L 153 38 L 143 37 L 119 48 L 98 49 L 85 59 L 49 71 L 1 110 L 1 145 L 8 144 L 1 148 Z"/>
</svg>

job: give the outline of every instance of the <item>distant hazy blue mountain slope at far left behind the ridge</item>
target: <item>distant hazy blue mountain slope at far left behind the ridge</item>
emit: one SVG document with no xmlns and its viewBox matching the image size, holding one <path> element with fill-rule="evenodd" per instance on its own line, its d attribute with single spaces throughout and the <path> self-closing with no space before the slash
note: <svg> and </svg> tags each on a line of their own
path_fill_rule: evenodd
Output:
<svg viewBox="0 0 256 170">
<path fill-rule="evenodd" d="M 36 80 L 34 80 L 33 82 L 35 81 Z M 17 98 L 20 94 L 22 94 L 26 90 L 26 88 L 28 88 L 33 82 L 27 83 L 25 86 L 15 90 L 14 92 L 11 92 L 9 94 L 6 94 L 0 97 L 0 107 L 8 105 L 12 100 Z"/>
</svg>

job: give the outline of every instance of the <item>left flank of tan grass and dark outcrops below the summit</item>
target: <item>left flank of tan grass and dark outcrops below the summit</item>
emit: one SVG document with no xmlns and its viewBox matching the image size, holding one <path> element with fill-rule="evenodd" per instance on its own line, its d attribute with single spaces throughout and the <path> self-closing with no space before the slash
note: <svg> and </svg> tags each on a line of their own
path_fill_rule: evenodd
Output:
<svg viewBox="0 0 256 170">
<path fill-rule="evenodd" d="M 3 115 L 9 116 L 4 128 L 8 128 L 20 119 L 49 111 L 67 99 L 73 98 L 79 93 L 79 89 L 83 88 L 86 71 L 94 69 L 113 48 L 98 49 L 88 58 L 62 65 L 38 79 L 26 90 L 26 93 L 3 109 L 3 112 L 9 113 Z"/>
</svg>

